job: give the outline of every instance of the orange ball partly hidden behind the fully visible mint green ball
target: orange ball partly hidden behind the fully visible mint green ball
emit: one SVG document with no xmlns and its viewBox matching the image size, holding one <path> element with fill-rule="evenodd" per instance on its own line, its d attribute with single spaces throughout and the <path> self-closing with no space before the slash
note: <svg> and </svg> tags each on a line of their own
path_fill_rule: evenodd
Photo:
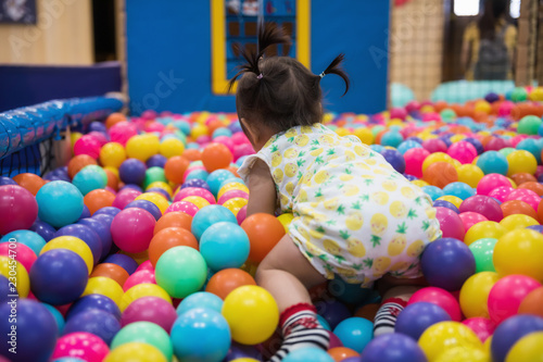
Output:
<svg viewBox="0 0 543 362">
<path fill-rule="evenodd" d="M 191 247 L 198 250 L 197 238 L 188 230 L 180 227 L 168 227 L 156 233 L 149 244 L 149 260 L 153 266 L 159 258 L 174 247 Z"/>
</svg>

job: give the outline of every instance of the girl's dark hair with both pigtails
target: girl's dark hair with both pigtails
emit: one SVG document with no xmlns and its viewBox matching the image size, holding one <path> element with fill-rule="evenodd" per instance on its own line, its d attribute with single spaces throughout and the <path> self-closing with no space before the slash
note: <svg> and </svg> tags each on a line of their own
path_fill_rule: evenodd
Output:
<svg viewBox="0 0 543 362">
<path fill-rule="evenodd" d="M 290 39 L 275 24 L 258 24 L 258 45 L 256 51 L 240 49 L 247 63 L 230 79 L 229 90 L 239 77 L 236 91 L 238 116 L 249 118 L 272 127 L 276 132 L 293 126 L 312 125 L 323 118 L 320 104 L 320 75 L 310 72 L 298 60 L 289 57 L 265 57 L 269 46 L 289 43 Z M 323 72 L 337 74 L 345 82 L 349 78 L 341 68 L 343 54 L 338 55 Z"/>
</svg>

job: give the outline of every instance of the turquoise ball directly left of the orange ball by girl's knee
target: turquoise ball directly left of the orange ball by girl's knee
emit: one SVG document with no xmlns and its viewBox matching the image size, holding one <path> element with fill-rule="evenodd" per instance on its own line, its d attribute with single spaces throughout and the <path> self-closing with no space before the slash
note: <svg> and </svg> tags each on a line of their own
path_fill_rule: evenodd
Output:
<svg viewBox="0 0 543 362">
<path fill-rule="evenodd" d="M 232 222 L 214 223 L 200 237 L 200 253 L 214 272 L 243 265 L 249 248 L 245 230 Z"/>
</svg>

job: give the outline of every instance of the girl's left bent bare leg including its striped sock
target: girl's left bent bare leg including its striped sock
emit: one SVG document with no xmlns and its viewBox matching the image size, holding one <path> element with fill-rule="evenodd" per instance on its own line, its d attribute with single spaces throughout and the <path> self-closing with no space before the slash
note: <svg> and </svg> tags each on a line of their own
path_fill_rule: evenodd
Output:
<svg viewBox="0 0 543 362">
<path fill-rule="evenodd" d="M 307 291 L 325 280 L 288 235 L 258 265 L 256 283 L 274 296 L 281 313 L 279 324 L 283 342 L 272 362 L 279 362 L 300 348 L 328 349 L 330 336 L 318 323 Z"/>
</svg>

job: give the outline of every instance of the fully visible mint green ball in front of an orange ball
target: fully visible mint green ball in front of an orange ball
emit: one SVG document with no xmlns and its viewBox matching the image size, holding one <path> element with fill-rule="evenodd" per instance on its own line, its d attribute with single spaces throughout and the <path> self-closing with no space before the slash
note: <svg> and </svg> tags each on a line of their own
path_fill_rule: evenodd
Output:
<svg viewBox="0 0 543 362">
<path fill-rule="evenodd" d="M 174 298 L 185 298 L 202 288 L 207 265 L 202 254 L 190 247 L 166 250 L 155 269 L 156 284 Z"/>
</svg>

